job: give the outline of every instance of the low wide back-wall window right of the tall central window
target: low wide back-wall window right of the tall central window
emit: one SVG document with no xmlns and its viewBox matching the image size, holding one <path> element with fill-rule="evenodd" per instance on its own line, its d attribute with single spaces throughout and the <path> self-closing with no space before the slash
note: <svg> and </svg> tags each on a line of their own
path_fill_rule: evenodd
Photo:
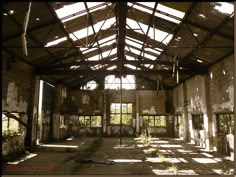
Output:
<svg viewBox="0 0 236 177">
<path fill-rule="evenodd" d="M 166 127 L 166 116 L 143 116 L 143 121 L 147 127 Z"/>
</svg>

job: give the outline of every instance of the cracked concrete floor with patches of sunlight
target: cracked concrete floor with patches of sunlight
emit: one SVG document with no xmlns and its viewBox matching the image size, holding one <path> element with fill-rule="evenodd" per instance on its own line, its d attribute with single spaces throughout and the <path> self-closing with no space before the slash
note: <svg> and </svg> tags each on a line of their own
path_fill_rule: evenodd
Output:
<svg viewBox="0 0 236 177">
<path fill-rule="evenodd" d="M 233 161 L 216 152 L 204 152 L 193 144 L 174 138 L 154 138 L 151 146 L 160 146 L 160 155 L 152 156 L 138 139 L 103 138 L 98 150 L 83 163 L 76 158 L 95 138 L 73 139 L 41 147 L 37 156 L 18 164 L 5 164 L 3 174 L 79 174 L 79 175 L 233 175 Z M 78 146 L 78 147 L 76 147 Z"/>
</svg>

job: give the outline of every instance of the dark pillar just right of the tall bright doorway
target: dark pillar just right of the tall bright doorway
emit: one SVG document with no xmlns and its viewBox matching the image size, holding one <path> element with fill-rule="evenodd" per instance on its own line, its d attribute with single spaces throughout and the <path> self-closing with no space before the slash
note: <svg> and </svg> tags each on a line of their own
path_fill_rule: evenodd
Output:
<svg viewBox="0 0 236 177">
<path fill-rule="evenodd" d="M 60 139 L 60 107 L 62 103 L 62 85 L 58 84 L 55 87 L 54 101 L 53 101 L 53 120 L 52 120 L 52 138 L 54 140 Z"/>
</svg>

